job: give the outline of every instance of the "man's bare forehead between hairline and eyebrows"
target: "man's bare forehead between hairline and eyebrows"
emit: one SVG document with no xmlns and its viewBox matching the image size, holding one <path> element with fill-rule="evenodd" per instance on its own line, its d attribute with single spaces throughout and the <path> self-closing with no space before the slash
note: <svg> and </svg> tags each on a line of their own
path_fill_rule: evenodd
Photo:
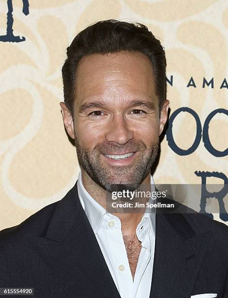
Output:
<svg viewBox="0 0 228 298">
<path fill-rule="evenodd" d="M 155 96 L 153 69 L 147 56 L 120 52 L 94 54 L 80 60 L 76 78 L 77 104 L 90 97 L 123 100 L 132 94 Z"/>
</svg>

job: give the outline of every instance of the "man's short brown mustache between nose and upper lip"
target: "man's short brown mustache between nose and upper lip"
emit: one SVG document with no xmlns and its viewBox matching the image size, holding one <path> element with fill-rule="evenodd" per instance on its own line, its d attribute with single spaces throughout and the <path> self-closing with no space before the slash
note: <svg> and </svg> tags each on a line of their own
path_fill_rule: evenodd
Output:
<svg viewBox="0 0 228 298">
<path fill-rule="evenodd" d="M 98 150 L 102 154 L 105 154 L 106 152 L 117 152 L 118 154 L 123 154 L 126 151 L 135 152 L 145 149 L 147 149 L 147 147 L 141 140 L 130 140 L 124 145 L 116 145 L 113 143 L 105 142 L 103 144 L 97 145 L 93 150 Z"/>
</svg>

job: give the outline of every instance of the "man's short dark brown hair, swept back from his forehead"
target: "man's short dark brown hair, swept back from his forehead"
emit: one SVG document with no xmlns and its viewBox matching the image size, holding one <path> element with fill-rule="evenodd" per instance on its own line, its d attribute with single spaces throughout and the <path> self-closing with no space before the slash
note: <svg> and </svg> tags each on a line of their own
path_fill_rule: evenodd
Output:
<svg viewBox="0 0 228 298">
<path fill-rule="evenodd" d="M 143 24 L 108 19 L 96 22 L 81 31 L 67 48 L 67 59 L 62 68 L 63 92 L 64 101 L 72 116 L 80 59 L 86 55 L 121 51 L 141 52 L 149 58 L 161 109 L 166 99 L 166 58 L 160 41 Z"/>
</svg>

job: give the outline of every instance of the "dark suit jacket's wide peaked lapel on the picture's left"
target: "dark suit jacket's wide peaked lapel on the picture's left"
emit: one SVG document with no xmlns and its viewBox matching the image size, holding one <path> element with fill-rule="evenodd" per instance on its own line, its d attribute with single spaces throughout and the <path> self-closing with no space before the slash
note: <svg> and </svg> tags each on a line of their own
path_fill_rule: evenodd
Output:
<svg viewBox="0 0 228 298">
<path fill-rule="evenodd" d="M 79 202 L 77 183 L 56 206 L 46 236 L 28 239 L 71 297 L 120 297 Z"/>
</svg>

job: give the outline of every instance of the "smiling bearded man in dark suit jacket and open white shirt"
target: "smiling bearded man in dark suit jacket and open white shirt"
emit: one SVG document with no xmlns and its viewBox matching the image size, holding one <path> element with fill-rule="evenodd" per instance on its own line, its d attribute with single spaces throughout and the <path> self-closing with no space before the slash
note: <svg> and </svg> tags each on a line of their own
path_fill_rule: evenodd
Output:
<svg viewBox="0 0 228 298">
<path fill-rule="evenodd" d="M 35 297 L 228 297 L 225 224 L 179 204 L 182 213 L 106 210 L 118 187 L 154 187 L 165 68 L 160 42 L 141 24 L 100 21 L 74 38 L 60 105 L 79 179 L 0 232 L 0 287 L 32 287 Z"/>
</svg>

